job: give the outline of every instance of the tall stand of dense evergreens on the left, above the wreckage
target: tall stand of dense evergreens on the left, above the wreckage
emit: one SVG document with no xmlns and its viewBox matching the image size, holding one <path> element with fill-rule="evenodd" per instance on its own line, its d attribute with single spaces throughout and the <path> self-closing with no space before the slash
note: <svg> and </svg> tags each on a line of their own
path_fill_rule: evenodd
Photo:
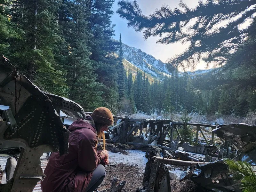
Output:
<svg viewBox="0 0 256 192">
<path fill-rule="evenodd" d="M 66 96 L 85 110 L 103 106 L 118 92 L 113 3 L 1 0 L 0 54 L 41 90 Z"/>
</svg>

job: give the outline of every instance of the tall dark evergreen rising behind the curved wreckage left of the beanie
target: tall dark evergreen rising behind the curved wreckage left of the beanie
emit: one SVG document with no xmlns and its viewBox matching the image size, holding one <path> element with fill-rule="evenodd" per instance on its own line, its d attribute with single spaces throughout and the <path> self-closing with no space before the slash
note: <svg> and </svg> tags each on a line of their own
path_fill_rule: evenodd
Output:
<svg viewBox="0 0 256 192">
<path fill-rule="evenodd" d="M 96 82 L 93 73 L 92 61 L 90 61 L 91 39 L 88 19 L 90 16 L 90 0 L 67 0 L 63 12 L 63 36 L 67 42 L 67 49 L 63 55 L 66 58 L 64 66 L 69 86 L 68 95 L 71 100 L 81 104 L 85 110 L 93 110 L 102 106 L 102 85 Z"/>
</svg>

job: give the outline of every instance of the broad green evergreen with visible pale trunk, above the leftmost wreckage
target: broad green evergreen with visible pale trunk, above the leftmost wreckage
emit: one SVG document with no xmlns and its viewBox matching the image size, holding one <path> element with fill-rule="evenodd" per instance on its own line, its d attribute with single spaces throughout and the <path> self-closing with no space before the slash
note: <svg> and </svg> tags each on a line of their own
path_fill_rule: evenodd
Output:
<svg viewBox="0 0 256 192">
<path fill-rule="evenodd" d="M 65 79 L 54 53 L 62 41 L 56 23 L 58 6 L 51 0 L 13 1 L 10 20 L 21 38 L 10 41 L 6 56 L 40 89 L 65 95 Z"/>
</svg>

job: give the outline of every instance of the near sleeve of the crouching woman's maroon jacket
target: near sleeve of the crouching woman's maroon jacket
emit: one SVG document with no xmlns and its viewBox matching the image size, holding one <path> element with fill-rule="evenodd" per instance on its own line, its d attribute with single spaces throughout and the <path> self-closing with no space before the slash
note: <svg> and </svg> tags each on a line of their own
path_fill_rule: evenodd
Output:
<svg viewBox="0 0 256 192">
<path fill-rule="evenodd" d="M 91 130 L 86 136 L 81 134 L 79 137 L 78 166 L 86 172 L 93 171 L 104 158 L 101 153 L 97 154 L 97 139 L 97 135 Z"/>
</svg>

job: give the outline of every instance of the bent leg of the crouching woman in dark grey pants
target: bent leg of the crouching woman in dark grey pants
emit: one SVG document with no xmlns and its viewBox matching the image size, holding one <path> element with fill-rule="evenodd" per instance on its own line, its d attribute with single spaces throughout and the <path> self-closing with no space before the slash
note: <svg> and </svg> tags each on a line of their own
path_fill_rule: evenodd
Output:
<svg viewBox="0 0 256 192">
<path fill-rule="evenodd" d="M 99 187 L 100 183 L 103 181 L 105 176 L 106 176 L 106 169 L 102 164 L 99 164 L 99 166 L 96 169 L 94 169 L 92 180 L 90 181 L 85 192 L 94 191 L 97 187 Z"/>
</svg>

